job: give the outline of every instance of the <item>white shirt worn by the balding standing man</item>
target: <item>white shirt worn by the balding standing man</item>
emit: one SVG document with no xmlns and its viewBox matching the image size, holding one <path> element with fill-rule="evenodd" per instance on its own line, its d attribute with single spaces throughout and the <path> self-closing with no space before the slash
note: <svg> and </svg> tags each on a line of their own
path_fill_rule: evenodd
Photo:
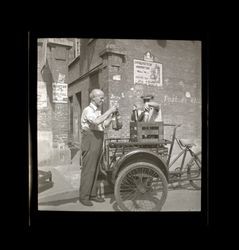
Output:
<svg viewBox="0 0 239 250">
<path fill-rule="evenodd" d="M 103 131 L 104 130 L 104 125 L 103 122 L 100 123 L 99 125 L 95 124 L 95 119 L 97 117 L 101 116 L 101 110 L 99 110 L 95 104 L 92 102 L 90 103 L 89 106 L 87 106 L 81 116 L 81 128 L 83 130 L 99 130 Z"/>
</svg>

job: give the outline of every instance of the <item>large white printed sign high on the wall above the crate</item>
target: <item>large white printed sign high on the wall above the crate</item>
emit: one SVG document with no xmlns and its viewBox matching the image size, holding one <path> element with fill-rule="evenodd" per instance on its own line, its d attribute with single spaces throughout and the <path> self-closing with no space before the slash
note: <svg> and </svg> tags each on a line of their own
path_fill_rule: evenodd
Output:
<svg viewBox="0 0 239 250">
<path fill-rule="evenodd" d="M 134 59 L 134 84 L 162 86 L 162 64 Z"/>
</svg>

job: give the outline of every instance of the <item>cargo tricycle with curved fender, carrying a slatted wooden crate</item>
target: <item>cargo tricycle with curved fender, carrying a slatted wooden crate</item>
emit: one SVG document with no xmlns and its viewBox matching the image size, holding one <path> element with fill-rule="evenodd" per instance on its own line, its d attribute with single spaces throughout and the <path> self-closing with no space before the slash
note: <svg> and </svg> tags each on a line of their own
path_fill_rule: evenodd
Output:
<svg viewBox="0 0 239 250">
<path fill-rule="evenodd" d="M 104 139 L 100 171 L 113 185 L 121 211 L 160 211 L 166 201 L 168 184 L 183 181 L 201 188 L 201 152 L 193 152 L 193 143 L 178 139 L 181 125 L 164 122 L 130 122 L 129 138 Z M 164 130 L 172 130 L 171 140 Z M 171 159 L 177 142 L 181 151 Z M 190 159 L 185 162 L 187 154 Z M 180 167 L 170 168 L 182 158 Z"/>
</svg>

